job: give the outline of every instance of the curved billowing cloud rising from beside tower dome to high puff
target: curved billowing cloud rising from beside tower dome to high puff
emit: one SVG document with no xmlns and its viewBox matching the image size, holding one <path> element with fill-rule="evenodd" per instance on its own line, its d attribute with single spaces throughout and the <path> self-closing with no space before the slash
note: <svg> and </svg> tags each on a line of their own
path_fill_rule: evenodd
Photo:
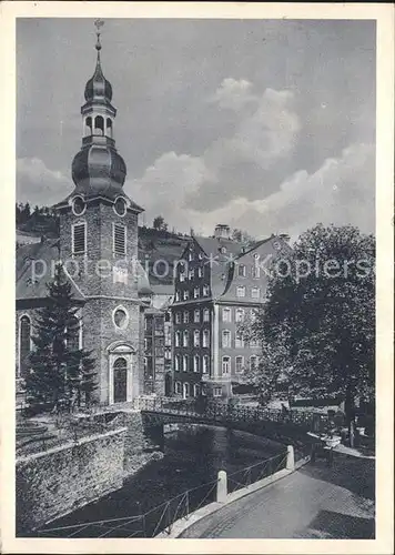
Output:
<svg viewBox="0 0 395 555">
<path fill-rule="evenodd" d="M 139 201 L 146 199 L 150 211 L 160 210 L 160 195 L 163 212 L 175 194 L 184 211 L 206 213 L 239 198 L 241 189 L 247 200 L 270 194 L 281 182 L 278 162 L 291 155 L 301 129 L 293 100 L 291 91 L 257 93 L 250 81 L 224 79 L 209 101 L 220 111 L 232 112 L 231 130 L 200 155 L 159 157 L 140 180 L 133 180 Z"/>
</svg>

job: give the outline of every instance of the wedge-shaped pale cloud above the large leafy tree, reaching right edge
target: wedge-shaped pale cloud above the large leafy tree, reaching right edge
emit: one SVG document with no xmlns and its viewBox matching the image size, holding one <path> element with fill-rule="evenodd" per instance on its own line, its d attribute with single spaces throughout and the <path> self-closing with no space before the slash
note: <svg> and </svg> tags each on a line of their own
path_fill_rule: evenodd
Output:
<svg viewBox="0 0 395 555">
<path fill-rule="evenodd" d="M 280 190 L 249 201 L 240 196 L 211 218 L 221 216 L 256 236 L 286 232 L 296 239 L 318 222 L 352 224 L 365 233 L 375 229 L 375 148 L 353 144 L 312 173 L 295 172 Z"/>
</svg>

